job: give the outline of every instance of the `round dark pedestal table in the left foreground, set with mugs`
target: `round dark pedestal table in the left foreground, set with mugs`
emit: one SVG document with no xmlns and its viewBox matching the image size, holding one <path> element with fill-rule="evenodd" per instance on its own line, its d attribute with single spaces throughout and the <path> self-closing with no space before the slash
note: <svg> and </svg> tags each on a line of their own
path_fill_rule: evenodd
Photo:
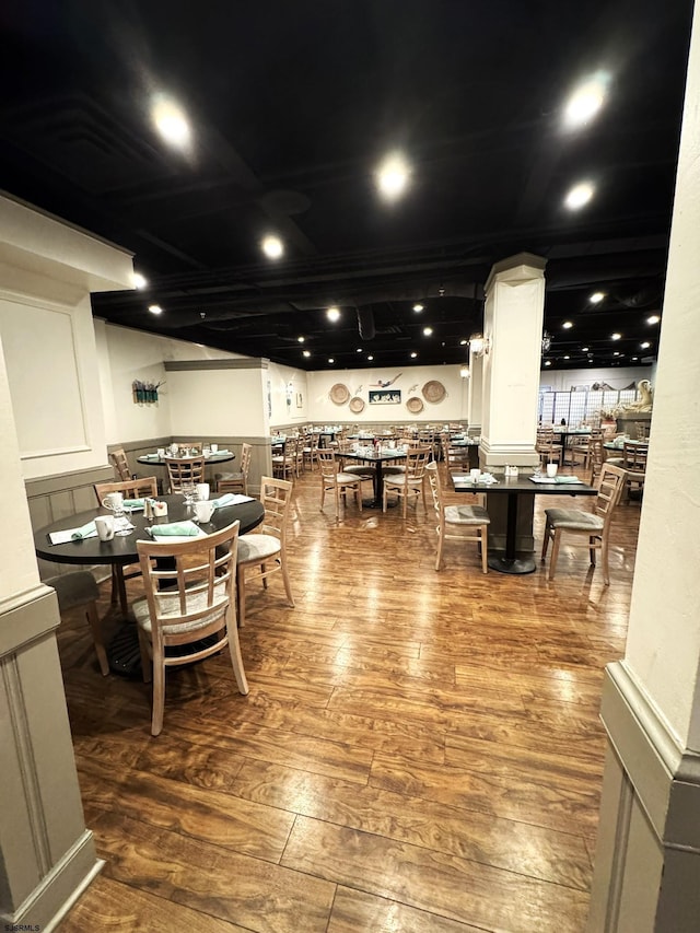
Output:
<svg viewBox="0 0 700 933">
<path fill-rule="evenodd" d="M 221 528 L 225 528 L 226 525 L 240 521 L 238 534 L 244 535 L 252 532 L 261 523 L 265 516 L 265 509 L 259 500 L 247 495 L 232 495 L 231 493 L 230 495 L 231 500 L 226 501 L 230 501 L 231 504 L 215 509 L 209 522 L 197 523 L 201 532 L 218 532 Z M 85 529 L 100 515 L 113 514 L 104 506 L 59 518 L 34 533 L 34 550 L 36 556 L 51 563 L 78 564 L 82 567 L 119 565 L 124 568 L 129 564 L 137 564 L 139 562 L 137 541 L 151 539 L 147 528 L 154 525 L 195 520 L 194 506 L 185 501 L 183 494 L 162 495 L 159 497 L 158 501 L 164 502 L 167 505 L 167 515 L 147 518 L 142 506 L 135 510 L 125 510 L 126 517 L 133 526 L 131 533 L 120 536 L 115 535 L 108 541 L 101 540 L 95 534 L 91 537 L 69 539 L 61 544 L 51 543 L 51 535 L 56 533 L 70 529 Z M 167 541 L 168 538 L 163 536 L 160 540 Z M 173 540 L 182 540 L 182 538 L 173 538 Z M 130 620 L 124 575 L 120 573 L 117 579 L 119 581 L 119 605 L 124 617 L 122 620 L 128 623 Z M 127 631 L 125 632 L 124 629 Z M 121 674 L 130 673 L 127 668 L 129 664 L 133 663 L 136 635 L 136 628 L 132 623 L 122 627 L 122 630 L 115 635 L 113 643 L 107 648 L 107 658 L 109 667 L 113 670 Z M 136 656 L 138 663 L 138 652 Z M 130 661 L 127 664 L 122 658 L 130 658 Z"/>
</svg>

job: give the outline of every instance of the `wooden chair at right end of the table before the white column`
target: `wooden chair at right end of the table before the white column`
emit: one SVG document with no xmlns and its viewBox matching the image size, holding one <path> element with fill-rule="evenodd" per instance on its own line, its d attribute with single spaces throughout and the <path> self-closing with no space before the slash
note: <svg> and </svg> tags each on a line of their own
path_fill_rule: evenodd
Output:
<svg viewBox="0 0 700 933">
<path fill-rule="evenodd" d="M 615 506 L 620 501 L 625 476 L 625 470 L 620 467 L 610 466 L 607 463 L 603 464 L 593 511 L 584 511 L 583 509 L 545 509 L 547 522 L 545 525 L 541 559 L 545 561 L 549 541 L 551 540 L 552 549 L 549 561 L 550 580 L 555 579 L 562 536 L 572 535 L 573 540 L 568 541 L 568 544 L 572 547 L 588 548 L 592 567 L 595 567 L 595 552 L 597 550 L 600 551 L 603 581 L 606 586 L 609 585 L 608 547 L 610 523 Z M 579 538 L 583 538 L 583 540 L 579 540 Z"/>
</svg>

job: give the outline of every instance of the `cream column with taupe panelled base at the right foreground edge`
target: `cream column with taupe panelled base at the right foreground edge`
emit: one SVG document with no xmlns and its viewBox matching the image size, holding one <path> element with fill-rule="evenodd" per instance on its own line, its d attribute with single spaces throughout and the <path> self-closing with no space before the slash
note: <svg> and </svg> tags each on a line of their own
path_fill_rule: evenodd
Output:
<svg viewBox="0 0 700 933">
<path fill-rule="evenodd" d="M 627 653 L 608 666 L 603 695 L 609 746 L 590 933 L 700 929 L 698 230 L 696 7 Z"/>
</svg>

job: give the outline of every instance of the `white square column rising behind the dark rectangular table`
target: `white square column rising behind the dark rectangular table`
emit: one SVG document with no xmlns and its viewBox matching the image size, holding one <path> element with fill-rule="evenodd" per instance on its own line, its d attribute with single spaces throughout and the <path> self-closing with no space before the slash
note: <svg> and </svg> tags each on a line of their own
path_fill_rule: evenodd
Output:
<svg viewBox="0 0 700 933">
<path fill-rule="evenodd" d="M 493 266 L 486 283 L 481 462 L 534 466 L 545 314 L 545 263 L 521 253 Z"/>
</svg>

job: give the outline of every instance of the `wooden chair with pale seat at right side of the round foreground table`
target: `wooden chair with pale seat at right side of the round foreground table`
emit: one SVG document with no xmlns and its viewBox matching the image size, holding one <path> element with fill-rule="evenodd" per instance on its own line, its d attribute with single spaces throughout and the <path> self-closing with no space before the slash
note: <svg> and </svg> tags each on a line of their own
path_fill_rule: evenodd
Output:
<svg viewBox="0 0 700 933">
<path fill-rule="evenodd" d="M 259 580 L 267 588 L 272 573 L 281 573 L 289 605 L 294 607 L 287 564 L 287 526 L 292 504 L 293 485 L 288 479 L 264 476 L 260 479 L 260 502 L 265 509 L 262 522 L 238 538 L 236 569 L 238 626 L 245 625 L 245 596 L 250 582 Z M 257 568 L 257 571 L 249 573 Z"/>
</svg>

